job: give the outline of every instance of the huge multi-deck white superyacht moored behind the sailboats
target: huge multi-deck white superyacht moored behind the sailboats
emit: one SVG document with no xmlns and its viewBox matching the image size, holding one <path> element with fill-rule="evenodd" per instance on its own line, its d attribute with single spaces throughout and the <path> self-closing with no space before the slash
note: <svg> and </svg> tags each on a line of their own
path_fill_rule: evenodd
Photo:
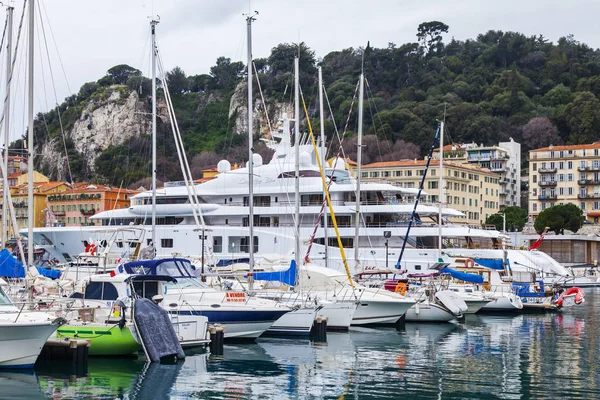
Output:
<svg viewBox="0 0 600 400">
<path fill-rule="evenodd" d="M 294 195 L 295 155 L 290 134 L 290 120 L 284 116 L 282 129 L 274 132 L 267 145 L 273 150 L 272 160 L 263 164 L 254 155 L 254 232 L 255 259 L 264 254 L 290 254 L 295 248 L 294 211 L 300 203 L 301 221 L 299 235 L 301 248 L 306 255 L 309 238 L 315 233 L 308 257 L 314 263 L 329 268 L 344 268 L 338 240 L 329 212 L 327 228 L 323 218 L 318 221 L 324 199 L 323 183 L 317 163 L 317 154 L 304 137 L 300 146 L 300 198 Z M 358 245 L 358 258 L 350 262 L 353 273 L 369 270 L 393 270 L 400 267 L 409 272 L 425 272 L 440 257 L 438 251 L 439 207 L 420 203 L 416 208 L 416 222 L 412 224 L 406 249 L 400 265 L 397 260 L 414 208 L 416 189 L 403 188 L 389 183 L 362 182 L 360 205 L 360 234 L 355 243 L 356 179 L 344 169 L 344 161 L 327 168 L 332 178 L 329 189 L 335 211 L 341 243 L 354 255 Z M 232 169 L 222 160 L 219 174 L 212 180 L 196 184 L 168 183 L 157 190 L 156 200 L 156 253 L 158 257 L 187 257 L 206 266 L 243 262 L 250 249 L 248 169 Z M 198 203 L 194 199 L 197 195 Z M 425 193 L 423 193 L 425 194 Z M 101 246 L 106 243 L 107 232 L 125 226 L 145 228 L 145 244 L 150 244 L 152 192 L 140 193 L 131 198 L 127 209 L 105 211 L 92 217 L 102 226 L 45 227 L 34 229 L 34 242 L 52 254 L 59 262 L 70 261 L 79 255 L 90 242 Z M 197 224 L 194 213 L 201 214 L 204 225 Z M 476 229 L 448 222 L 459 211 L 444 208 L 442 211 L 442 257 L 452 261 L 461 257 L 501 258 L 502 235 L 495 230 Z M 315 228 L 316 224 L 318 227 Z M 205 232 L 204 235 L 202 232 Z M 26 235 L 26 232 L 22 231 Z M 326 243 L 327 246 L 326 246 Z M 387 254 L 386 254 L 387 251 Z M 535 253 L 535 254 L 534 254 Z M 513 268 L 544 270 L 566 275 L 564 268 L 541 252 L 509 250 L 508 258 Z M 516 261 L 514 262 L 513 261 Z"/>
</svg>

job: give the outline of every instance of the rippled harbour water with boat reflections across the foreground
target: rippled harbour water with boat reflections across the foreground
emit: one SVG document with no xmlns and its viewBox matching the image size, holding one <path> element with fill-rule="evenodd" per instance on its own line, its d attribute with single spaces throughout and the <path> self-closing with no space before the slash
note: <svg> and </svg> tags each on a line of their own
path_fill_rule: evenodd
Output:
<svg viewBox="0 0 600 400">
<path fill-rule="evenodd" d="M 0 372 L 7 399 L 550 399 L 600 396 L 600 289 L 561 312 L 259 339 L 173 365 L 90 359 Z"/>
</svg>

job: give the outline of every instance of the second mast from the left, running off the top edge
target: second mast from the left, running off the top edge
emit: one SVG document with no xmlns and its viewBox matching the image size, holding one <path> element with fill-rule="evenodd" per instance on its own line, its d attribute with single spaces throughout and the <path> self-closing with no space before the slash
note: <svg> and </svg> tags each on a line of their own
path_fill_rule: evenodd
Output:
<svg viewBox="0 0 600 400">
<path fill-rule="evenodd" d="M 27 129 L 27 266 L 33 267 L 33 53 L 34 53 L 35 0 L 29 1 L 29 90 Z M 10 65 L 8 66 L 10 68 Z M 5 181 L 5 184 L 8 181 Z M 16 227 L 15 227 L 16 228 Z"/>
</svg>

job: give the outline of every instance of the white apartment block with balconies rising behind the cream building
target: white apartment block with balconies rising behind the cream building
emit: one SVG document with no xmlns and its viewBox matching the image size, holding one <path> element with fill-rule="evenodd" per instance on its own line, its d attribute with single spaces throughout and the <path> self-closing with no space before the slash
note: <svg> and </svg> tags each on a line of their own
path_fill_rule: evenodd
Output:
<svg viewBox="0 0 600 400">
<path fill-rule="evenodd" d="M 439 160 L 439 149 L 434 158 Z M 479 165 L 498 174 L 500 208 L 521 206 L 521 144 L 510 138 L 497 146 L 476 143 L 444 146 L 444 160 Z"/>
</svg>

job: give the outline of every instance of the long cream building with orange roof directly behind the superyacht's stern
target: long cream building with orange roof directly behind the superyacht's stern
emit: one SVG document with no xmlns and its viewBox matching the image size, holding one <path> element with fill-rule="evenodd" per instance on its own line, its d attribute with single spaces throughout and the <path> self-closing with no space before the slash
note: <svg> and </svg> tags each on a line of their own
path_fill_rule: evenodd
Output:
<svg viewBox="0 0 600 400">
<path fill-rule="evenodd" d="M 361 179 L 386 180 L 406 188 L 418 189 L 425 172 L 426 160 L 401 160 L 364 165 Z M 427 203 L 439 202 L 439 161 L 431 162 L 423 190 Z M 461 211 L 463 217 L 452 218 L 455 223 L 483 225 L 499 211 L 498 174 L 486 168 L 468 164 L 444 162 L 444 207 Z"/>
</svg>

